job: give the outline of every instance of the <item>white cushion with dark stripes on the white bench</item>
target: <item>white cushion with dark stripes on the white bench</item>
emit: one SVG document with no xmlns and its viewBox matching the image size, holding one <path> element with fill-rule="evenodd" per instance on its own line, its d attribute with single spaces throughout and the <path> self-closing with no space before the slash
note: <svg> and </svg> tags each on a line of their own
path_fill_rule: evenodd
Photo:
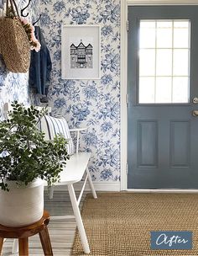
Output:
<svg viewBox="0 0 198 256">
<path fill-rule="evenodd" d="M 70 136 L 70 130 L 64 117 L 52 117 L 44 115 L 39 122 L 40 130 L 44 132 L 46 141 L 54 140 L 56 135 L 62 135 L 65 139 L 69 139 L 67 144 L 67 152 L 69 155 L 74 153 L 74 143 Z"/>
</svg>

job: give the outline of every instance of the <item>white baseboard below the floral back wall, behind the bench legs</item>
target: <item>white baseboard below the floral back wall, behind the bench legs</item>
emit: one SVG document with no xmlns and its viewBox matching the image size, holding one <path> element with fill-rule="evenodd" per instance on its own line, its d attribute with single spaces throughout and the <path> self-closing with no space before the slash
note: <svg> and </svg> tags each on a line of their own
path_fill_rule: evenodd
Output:
<svg viewBox="0 0 198 256">
<path fill-rule="evenodd" d="M 96 191 L 120 191 L 120 183 L 117 182 L 93 182 Z M 82 187 L 82 182 L 78 182 L 74 184 L 74 188 L 76 191 L 80 191 Z M 55 190 L 67 190 L 66 185 L 57 185 L 55 186 Z M 85 191 L 90 191 L 90 186 L 86 183 Z"/>
</svg>

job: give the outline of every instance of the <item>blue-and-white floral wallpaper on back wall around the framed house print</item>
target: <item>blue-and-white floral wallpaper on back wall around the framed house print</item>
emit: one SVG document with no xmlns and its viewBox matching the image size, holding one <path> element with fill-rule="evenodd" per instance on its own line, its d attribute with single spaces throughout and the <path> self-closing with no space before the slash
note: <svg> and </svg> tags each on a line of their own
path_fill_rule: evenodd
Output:
<svg viewBox="0 0 198 256">
<path fill-rule="evenodd" d="M 70 127 L 87 127 L 81 150 L 91 152 L 96 181 L 120 180 L 120 0 L 40 0 L 40 26 L 53 62 L 49 101 Z M 100 80 L 61 79 L 61 24 L 101 25 Z"/>
</svg>

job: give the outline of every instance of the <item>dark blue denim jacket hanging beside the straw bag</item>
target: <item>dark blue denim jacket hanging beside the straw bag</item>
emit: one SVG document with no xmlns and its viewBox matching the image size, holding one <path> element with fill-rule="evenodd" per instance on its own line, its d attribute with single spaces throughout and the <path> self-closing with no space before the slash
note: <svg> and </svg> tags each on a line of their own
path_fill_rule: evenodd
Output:
<svg viewBox="0 0 198 256">
<path fill-rule="evenodd" d="M 41 48 L 39 52 L 31 51 L 29 85 L 36 90 L 36 93 L 46 96 L 50 85 L 50 72 L 52 69 L 50 51 L 46 46 L 44 35 L 39 26 L 35 26 L 34 29 L 35 36 L 39 40 Z"/>
</svg>

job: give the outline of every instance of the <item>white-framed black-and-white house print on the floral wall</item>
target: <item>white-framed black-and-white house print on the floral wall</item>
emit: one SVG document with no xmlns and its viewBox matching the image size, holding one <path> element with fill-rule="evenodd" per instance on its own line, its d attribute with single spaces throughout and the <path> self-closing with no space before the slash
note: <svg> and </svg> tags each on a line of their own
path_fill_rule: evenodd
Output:
<svg viewBox="0 0 198 256">
<path fill-rule="evenodd" d="M 100 25 L 62 25 L 61 77 L 101 79 Z"/>
</svg>

